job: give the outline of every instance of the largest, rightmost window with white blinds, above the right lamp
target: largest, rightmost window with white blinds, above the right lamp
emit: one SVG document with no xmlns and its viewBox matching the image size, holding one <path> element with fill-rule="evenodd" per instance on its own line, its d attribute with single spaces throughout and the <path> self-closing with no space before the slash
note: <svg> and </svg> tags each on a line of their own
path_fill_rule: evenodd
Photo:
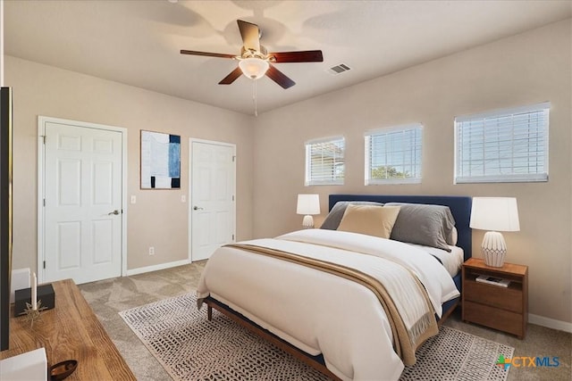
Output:
<svg viewBox="0 0 572 381">
<path fill-rule="evenodd" d="M 455 183 L 548 181 L 550 103 L 455 119 Z"/>
</svg>

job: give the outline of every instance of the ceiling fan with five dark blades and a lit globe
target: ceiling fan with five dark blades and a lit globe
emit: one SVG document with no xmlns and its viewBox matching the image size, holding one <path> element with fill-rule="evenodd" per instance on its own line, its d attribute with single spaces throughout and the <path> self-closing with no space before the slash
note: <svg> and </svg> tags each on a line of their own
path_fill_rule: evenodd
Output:
<svg viewBox="0 0 572 381">
<path fill-rule="evenodd" d="M 239 67 L 221 80 L 219 85 L 230 85 L 244 74 L 249 79 L 260 79 L 264 75 L 272 79 L 283 88 L 296 85 L 292 79 L 288 78 L 282 71 L 276 69 L 273 63 L 283 62 L 323 62 L 321 50 L 307 50 L 298 52 L 267 53 L 266 48 L 260 45 L 260 29 L 257 24 L 237 20 L 242 37 L 240 55 L 220 54 L 208 52 L 196 52 L 193 50 L 181 50 L 181 54 L 206 55 L 208 57 L 231 58 L 239 61 Z"/>
</svg>

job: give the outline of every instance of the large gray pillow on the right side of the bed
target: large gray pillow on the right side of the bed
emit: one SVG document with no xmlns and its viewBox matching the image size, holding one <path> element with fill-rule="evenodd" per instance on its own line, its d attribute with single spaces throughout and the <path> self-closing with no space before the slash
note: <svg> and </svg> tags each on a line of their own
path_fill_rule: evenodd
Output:
<svg viewBox="0 0 572 381">
<path fill-rule="evenodd" d="M 386 203 L 401 207 L 391 230 L 391 239 L 423 244 L 450 252 L 447 242 L 455 227 L 448 206 L 421 203 Z"/>
</svg>

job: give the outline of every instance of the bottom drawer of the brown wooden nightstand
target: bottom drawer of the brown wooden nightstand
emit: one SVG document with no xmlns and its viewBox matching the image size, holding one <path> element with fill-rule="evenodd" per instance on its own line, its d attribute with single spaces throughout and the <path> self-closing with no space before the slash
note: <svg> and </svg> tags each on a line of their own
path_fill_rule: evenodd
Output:
<svg viewBox="0 0 572 381">
<path fill-rule="evenodd" d="M 468 321 L 481 324 L 486 327 L 499 329 L 509 334 L 523 336 L 523 319 L 521 314 L 510 311 L 498 310 L 484 304 L 475 302 L 463 303 L 463 317 Z"/>
</svg>

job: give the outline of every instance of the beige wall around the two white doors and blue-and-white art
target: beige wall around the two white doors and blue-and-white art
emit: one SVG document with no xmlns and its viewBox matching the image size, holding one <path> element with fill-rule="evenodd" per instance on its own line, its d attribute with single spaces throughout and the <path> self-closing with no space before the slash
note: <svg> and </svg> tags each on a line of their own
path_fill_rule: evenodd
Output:
<svg viewBox="0 0 572 381">
<path fill-rule="evenodd" d="M 252 236 L 253 118 L 205 104 L 5 57 L 13 87 L 13 268 L 36 268 L 38 115 L 128 129 L 128 269 L 188 258 L 189 137 L 237 146 L 237 237 Z M 139 189 L 139 130 L 181 135 L 181 189 Z M 188 197 L 189 199 L 189 197 Z M 155 246 L 149 256 L 148 246 Z"/>
</svg>

